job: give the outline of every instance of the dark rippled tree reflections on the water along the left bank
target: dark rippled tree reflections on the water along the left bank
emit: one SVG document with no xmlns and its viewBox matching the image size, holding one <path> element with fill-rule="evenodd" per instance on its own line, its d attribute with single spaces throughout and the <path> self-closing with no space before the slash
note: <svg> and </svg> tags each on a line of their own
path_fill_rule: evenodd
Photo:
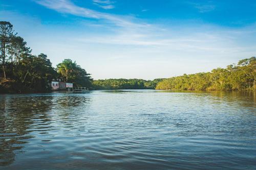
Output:
<svg viewBox="0 0 256 170">
<path fill-rule="evenodd" d="M 73 119 L 82 118 L 73 108 L 84 110 L 89 100 L 79 94 L 39 95 L 0 97 L 0 167 L 15 161 L 15 150 L 22 149 L 26 139 L 34 137 L 30 132 L 49 131 L 52 121 L 60 123 L 59 119 L 71 114 L 76 114 Z"/>
</svg>

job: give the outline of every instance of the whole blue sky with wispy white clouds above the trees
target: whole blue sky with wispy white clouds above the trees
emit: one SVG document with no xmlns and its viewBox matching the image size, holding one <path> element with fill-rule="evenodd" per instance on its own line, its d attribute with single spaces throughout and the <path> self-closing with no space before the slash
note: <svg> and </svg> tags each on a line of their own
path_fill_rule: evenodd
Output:
<svg viewBox="0 0 256 170">
<path fill-rule="evenodd" d="M 153 80 L 256 56 L 256 1 L 0 0 L 32 54 L 94 79 Z"/>
</svg>

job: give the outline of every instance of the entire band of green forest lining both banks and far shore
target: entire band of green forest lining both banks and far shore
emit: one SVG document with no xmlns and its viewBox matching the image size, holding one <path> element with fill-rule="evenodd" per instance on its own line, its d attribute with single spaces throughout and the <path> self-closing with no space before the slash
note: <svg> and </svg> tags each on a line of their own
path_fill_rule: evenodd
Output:
<svg viewBox="0 0 256 170">
<path fill-rule="evenodd" d="M 65 59 L 56 67 L 45 54 L 33 55 L 27 42 L 14 32 L 8 21 L 0 21 L 0 93 L 51 91 L 51 81 L 60 79 L 74 87 L 94 90 L 255 90 L 256 58 L 240 60 L 226 68 L 168 79 L 93 80 L 75 61 Z M 171 72 L 171 71 L 170 71 Z"/>
</svg>

